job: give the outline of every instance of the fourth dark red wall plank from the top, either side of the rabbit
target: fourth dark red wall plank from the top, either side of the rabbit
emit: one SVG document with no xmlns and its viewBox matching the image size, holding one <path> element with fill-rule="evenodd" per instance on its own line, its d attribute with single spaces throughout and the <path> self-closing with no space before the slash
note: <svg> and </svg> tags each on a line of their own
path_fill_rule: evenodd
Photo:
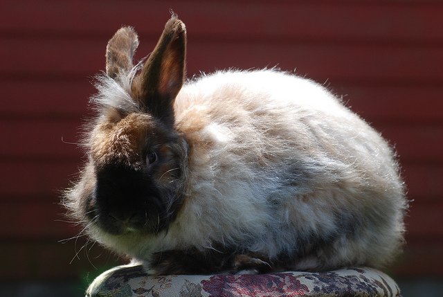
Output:
<svg viewBox="0 0 443 297">
<path fill-rule="evenodd" d="M 63 160 L 79 159 L 78 145 L 82 135 L 80 120 L 0 120 L 0 135 L 8 141 L 0 142 L 0 159 L 26 158 Z M 374 125 L 395 146 L 401 161 L 443 163 L 443 123 L 434 125 Z"/>
</svg>

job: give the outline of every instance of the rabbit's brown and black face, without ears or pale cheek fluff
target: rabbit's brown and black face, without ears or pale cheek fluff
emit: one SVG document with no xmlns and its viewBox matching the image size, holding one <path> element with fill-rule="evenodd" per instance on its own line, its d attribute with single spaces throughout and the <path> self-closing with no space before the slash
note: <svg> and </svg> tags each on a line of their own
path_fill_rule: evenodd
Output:
<svg viewBox="0 0 443 297">
<path fill-rule="evenodd" d="M 111 234 L 167 228 L 183 201 L 186 143 L 149 114 L 129 114 L 97 125 L 91 144 L 89 219 Z"/>
</svg>

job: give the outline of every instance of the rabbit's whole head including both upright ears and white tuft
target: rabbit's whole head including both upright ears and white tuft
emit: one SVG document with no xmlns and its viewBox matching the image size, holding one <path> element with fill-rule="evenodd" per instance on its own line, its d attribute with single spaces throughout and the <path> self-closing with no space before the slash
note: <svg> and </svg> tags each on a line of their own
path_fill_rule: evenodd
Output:
<svg viewBox="0 0 443 297">
<path fill-rule="evenodd" d="M 185 77 L 185 26 L 173 16 L 141 68 L 132 64 L 137 46 L 129 27 L 109 40 L 89 163 L 66 195 L 75 217 L 113 235 L 167 228 L 186 188 L 188 145 L 173 109 Z"/>
</svg>

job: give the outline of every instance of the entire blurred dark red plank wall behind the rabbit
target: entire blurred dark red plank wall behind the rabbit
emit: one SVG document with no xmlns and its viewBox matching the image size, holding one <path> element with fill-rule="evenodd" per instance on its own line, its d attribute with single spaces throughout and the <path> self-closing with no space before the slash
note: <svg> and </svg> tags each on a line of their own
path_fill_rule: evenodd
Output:
<svg viewBox="0 0 443 297">
<path fill-rule="evenodd" d="M 188 76 L 295 71 L 395 145 L 413 202 L 405 252 L 388 273 L 404 297 L 443 296 L 443 2 L 426 0 L 2 0 L 0 295 L 84 296 L 125 262 L 76 237 L 60 190 L 84 159 L 75 143 L 108 39 L 134 26 L 140 60 L 170 9 L 188 28 Z"/>
</svg>

